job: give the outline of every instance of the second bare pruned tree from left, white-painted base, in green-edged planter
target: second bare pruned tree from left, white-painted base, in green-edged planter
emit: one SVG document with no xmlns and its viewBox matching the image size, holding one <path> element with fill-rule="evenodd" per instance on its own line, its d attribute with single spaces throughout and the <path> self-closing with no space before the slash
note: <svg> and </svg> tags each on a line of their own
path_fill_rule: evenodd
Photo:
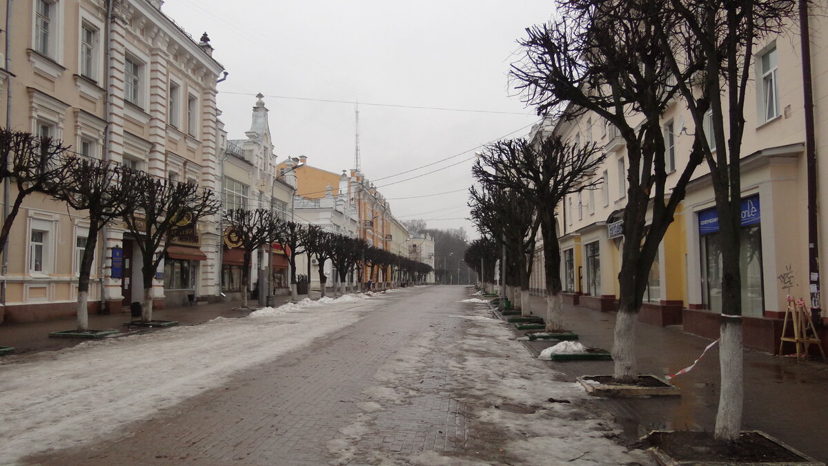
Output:
<svg viewBox="0 0 828 466">
<path fill-rule="evenodd" d="M 77 211 L 86 211 L 89 232 L 78 274 L 78 330 L 89 329 L 89 275 L 103 226 L 126 215 L 137 196 L 137 177 L 145 176 L 118 163 L 103 160 L 70 158 L 66 176 L 52 197 L 65 201 Z M 101 289 L 103 296 L 103 289 Z"/>
</svg>

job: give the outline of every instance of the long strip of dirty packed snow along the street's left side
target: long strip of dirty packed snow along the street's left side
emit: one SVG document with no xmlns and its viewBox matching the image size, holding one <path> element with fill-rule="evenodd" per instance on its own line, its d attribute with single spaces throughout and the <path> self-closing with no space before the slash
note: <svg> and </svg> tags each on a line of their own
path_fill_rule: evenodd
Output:
<svg viewBox="0 0 828 466">
<path fill-rule="evenodd" d="M 83 342 L 0 362 L 0 464 L 99 440 L 306 347 L 378 306 L 359 295 L 262 308 L 249 318 Z M 335 315 L 332 316 L 332 313 Z"/>
</svg>

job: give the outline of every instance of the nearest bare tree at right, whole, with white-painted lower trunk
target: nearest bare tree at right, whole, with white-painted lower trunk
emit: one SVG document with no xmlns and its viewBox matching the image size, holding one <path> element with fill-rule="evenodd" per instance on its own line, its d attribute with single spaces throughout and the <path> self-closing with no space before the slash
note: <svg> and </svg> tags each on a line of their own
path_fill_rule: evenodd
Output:
<svg viewBox="0 0 828 466">
<path fill-rule="evenodd" d="M 798 7 L 802 6 L 807 15 L 807 2 L 798 2 Z M 687 56 L 697 56 L 701 65 L 695 80 L 679 80 L 677 87 L 686 100 L 696 125 L 697 143 L 710 167 L 719 216 L 721 390 L 715 436 L 734 440 L 739 438 L 744 400 L 739 161 L 745 95 L 751 81 L 754 46 L 764 37 L 782 32 L 799 9 L 797 2 L 789 0 L 670 0 L 663 7 L 663 14 L 671 17 L 674 24 L 657 31 L 668 69 L 673 75 L 681 75 Z M 754 85 L 755 91 L 760 92 L 758 83 Z M 704 124 L 705 114 L 710 114 L 710 126 Z"/>
</svg>

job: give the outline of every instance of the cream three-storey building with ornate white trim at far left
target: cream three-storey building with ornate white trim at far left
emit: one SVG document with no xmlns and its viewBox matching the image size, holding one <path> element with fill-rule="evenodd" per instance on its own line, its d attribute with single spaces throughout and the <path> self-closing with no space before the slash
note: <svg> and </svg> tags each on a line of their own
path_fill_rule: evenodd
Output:
<svg viewBox="0 0 828 466">
<path fill-rule="evenodd" d="M 9 17 L 0 9 L 9 25 L 2 124 L 60 139 L 84 157 L 218 189 L 215 95 L 223 68 L 207 36 L 194 41 L 161 3 L 16 0 Z M 216 220 L 200 222 L 165 258 L 152 284 L 156 305 L 219 294 Z M 26 198 L 3 258 L 8 320 L 74 315 L 84 229 L 83 213 L 67 214 L 40 194 Z M 120 311 L 140 297 L 140 252 L 123 225 L 108 227 L 99 243 L 89 307 Z M 122 279 L 112 278 L 113 248 L 123 248 Z"/>
</svg>

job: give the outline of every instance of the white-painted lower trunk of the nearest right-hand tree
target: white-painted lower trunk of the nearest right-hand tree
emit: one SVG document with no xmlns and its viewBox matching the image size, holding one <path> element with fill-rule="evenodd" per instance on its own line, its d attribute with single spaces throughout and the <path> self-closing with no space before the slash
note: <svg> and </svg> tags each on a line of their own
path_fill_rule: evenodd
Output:
<svg viewBox="0 0 828 466">
<path fill-rule="evenodd" d="M 722 376 L 715 437 L 720 440 L 735 440 L 739 438 L 741 430 L 744 403 L 741 319 L 725 318 L 719 330 L 719 338 L 719 366 Z"/>
</svg>

